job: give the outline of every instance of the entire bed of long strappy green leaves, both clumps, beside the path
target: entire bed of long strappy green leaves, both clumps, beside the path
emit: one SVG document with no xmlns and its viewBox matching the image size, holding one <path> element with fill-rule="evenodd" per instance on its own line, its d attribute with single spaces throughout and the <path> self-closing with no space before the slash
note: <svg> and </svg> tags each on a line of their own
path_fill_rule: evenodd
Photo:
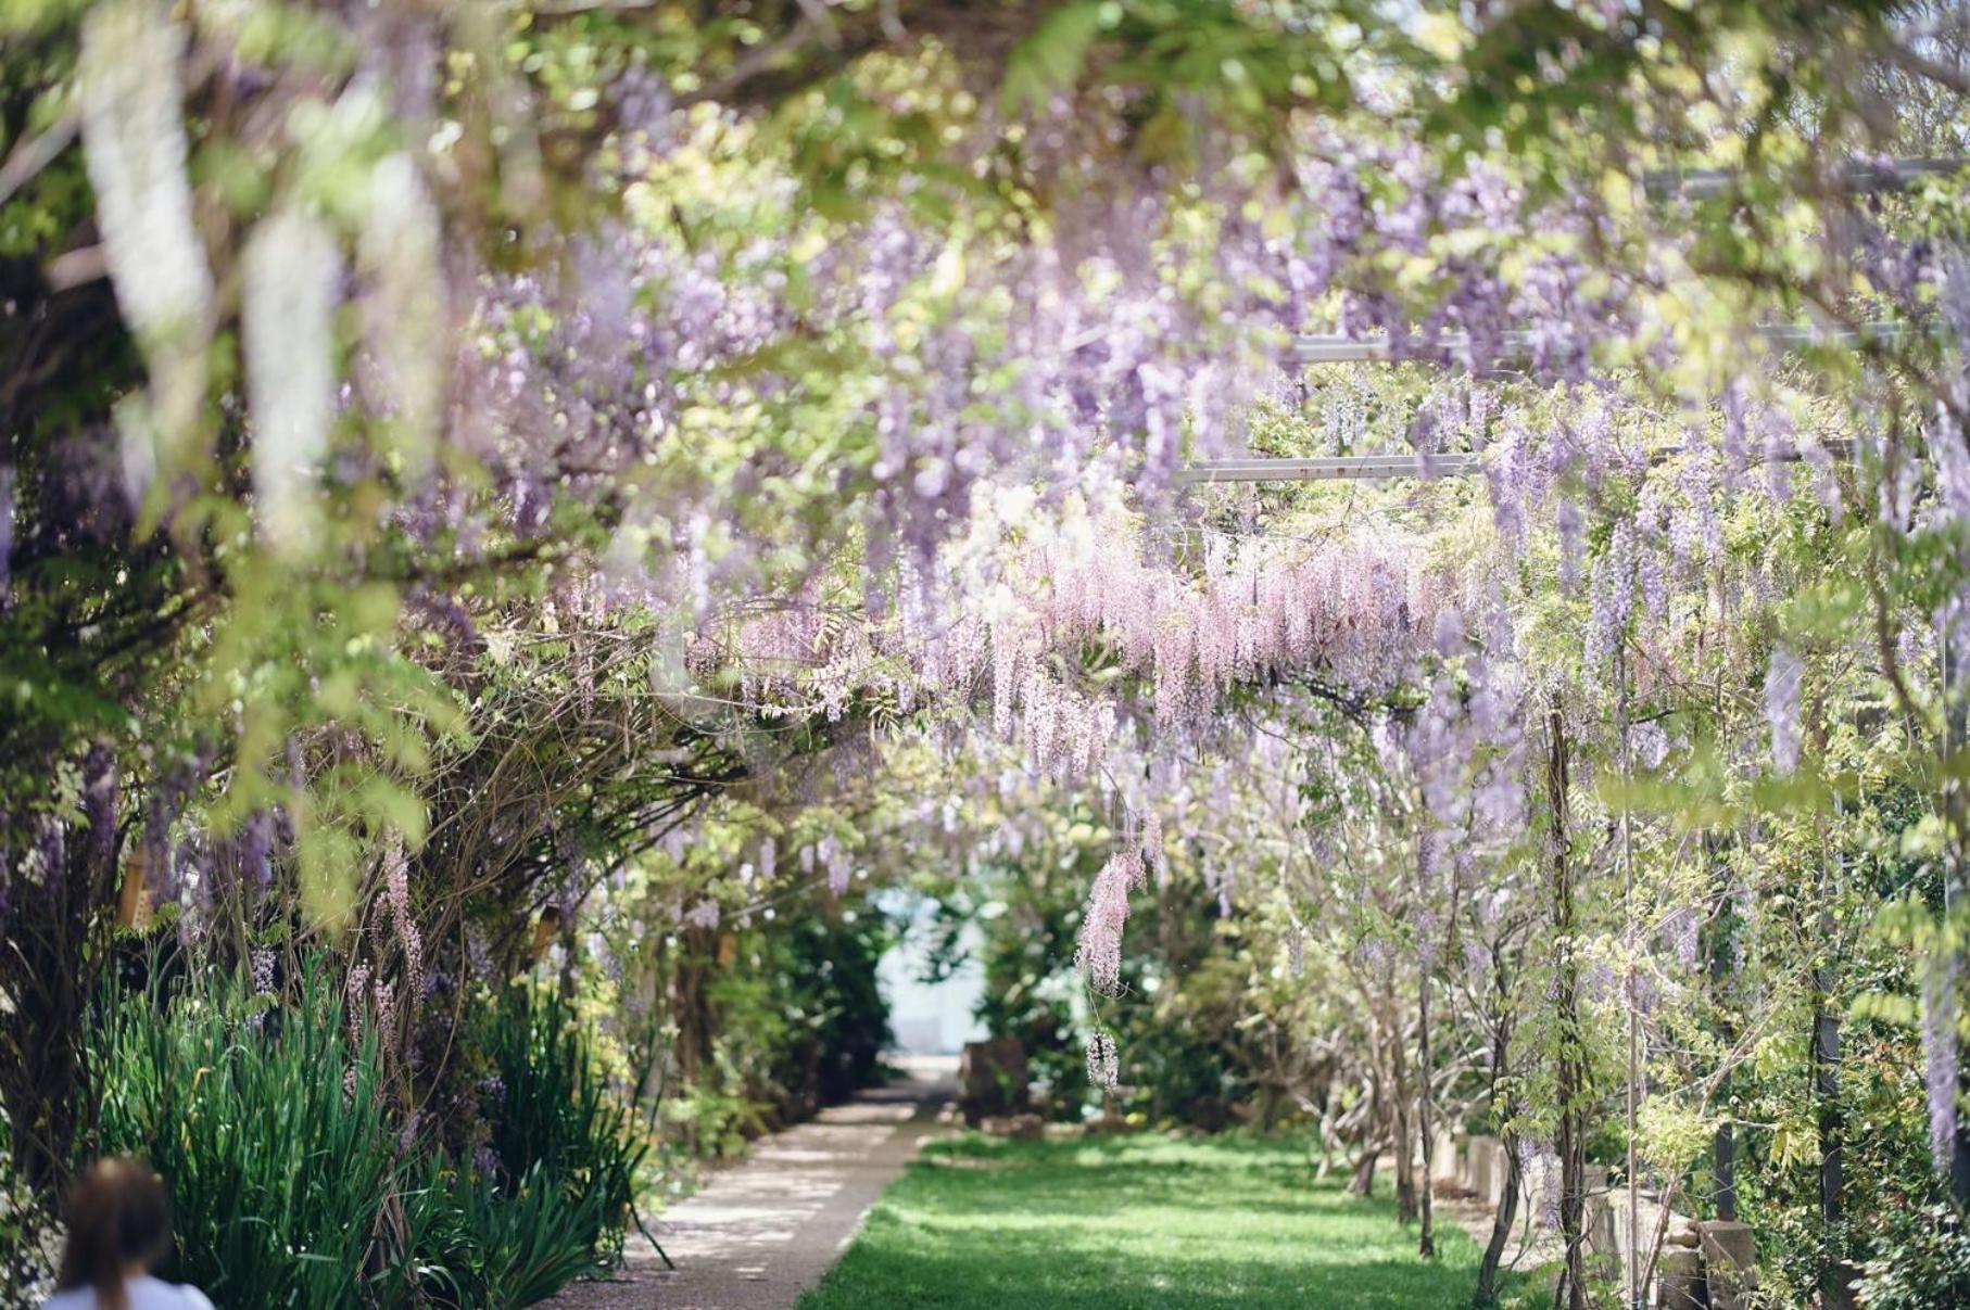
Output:
<svg viewBox="0 0 1970 1310">
<path fill-rule="evenodd" d="M 164 1176 L 169 1277 L 227 1306 L 524 1306 L 621 1255 L 642 1146 L 558 997 L 485 1020 L 479 1166 L 396 1127 L 333 971 L 299 977 L 286 1007 L 217 973 L 104 997 L 100 1148 Z"/>
</svg>

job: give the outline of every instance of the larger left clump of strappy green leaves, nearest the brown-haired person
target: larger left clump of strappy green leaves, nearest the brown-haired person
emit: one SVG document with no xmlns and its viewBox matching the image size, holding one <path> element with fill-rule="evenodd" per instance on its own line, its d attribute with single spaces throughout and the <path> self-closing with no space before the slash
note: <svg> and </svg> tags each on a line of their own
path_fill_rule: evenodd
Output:
<svg viewBox="0 0 1970 1310">
<path fill-rule="evenodd" d="M 288 1009 L 211 975 L 104 999 L 100 1148 L 164 1176 L 177 1229 L 167 1273 L 219 1304 L 392 1302 L 412 1286 L 384 1221 L 406 1166 L 374 1040 L 351 1050 L 325 973 L 305 969 Z"/>
</svg>

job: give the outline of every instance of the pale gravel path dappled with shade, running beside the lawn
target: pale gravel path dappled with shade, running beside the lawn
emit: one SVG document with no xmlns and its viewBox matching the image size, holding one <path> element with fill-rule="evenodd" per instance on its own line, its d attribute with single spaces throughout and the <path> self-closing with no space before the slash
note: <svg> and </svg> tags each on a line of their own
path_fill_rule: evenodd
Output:
<svg viewBox="0 0 1970 1310">
<path fill-rule="evenodd" d="M 664 1269 L 640 1233 L 613 1282 L 579 1282 L 569 1310 L 786 1310 L 821 1280 L 863 1213 L 940 1127 L 955 1060 L 904 1062 L 908 1078 L 753 1145 L 735 1168 L 650 1225 L 678 1263 Z"/>
</svg>

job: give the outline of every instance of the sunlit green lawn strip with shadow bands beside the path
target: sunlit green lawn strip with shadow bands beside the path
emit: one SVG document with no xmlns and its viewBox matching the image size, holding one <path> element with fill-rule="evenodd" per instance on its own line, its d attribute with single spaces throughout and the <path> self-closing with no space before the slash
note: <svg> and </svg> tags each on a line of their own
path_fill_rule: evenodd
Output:
<svg viewBox="0 0 1970 1310">
<path fill-rule="evenodd" d="M 1294 1141 L 930 1143 L 798 1310 L 1470 1304 L 1478 1245 L 1314 1180 Z"/>
</svg>

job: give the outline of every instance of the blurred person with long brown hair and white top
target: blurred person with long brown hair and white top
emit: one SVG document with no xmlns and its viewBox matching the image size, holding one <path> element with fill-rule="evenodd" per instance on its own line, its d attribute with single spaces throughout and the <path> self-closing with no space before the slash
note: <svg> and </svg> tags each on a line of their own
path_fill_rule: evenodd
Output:
<svg viewBox="0 0 1970 1310">
<path fill-rule="evenodd" d="M 142 1160 L 97 1160 L 69 1192 L 61 1278 L 41 1310 L 213 1310 L 205 1292 L 150 1275 L 169 1249 L 164 1180 Z"/>
</svg>

